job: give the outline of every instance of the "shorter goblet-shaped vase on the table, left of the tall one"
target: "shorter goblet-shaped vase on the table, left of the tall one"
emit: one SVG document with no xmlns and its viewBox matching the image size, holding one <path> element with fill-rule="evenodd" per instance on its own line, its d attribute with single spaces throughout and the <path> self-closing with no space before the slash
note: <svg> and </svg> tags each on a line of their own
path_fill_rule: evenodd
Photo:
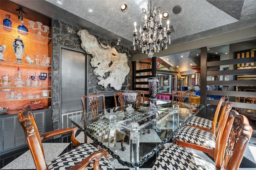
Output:
<svg viewBox="0 0 256 170">
<path fill-rule="evenodd" d="M 132 105 L 135 104 L 138 96 L 138 91 L 136 90 L 124 90 L 123 92 L 124 102 L 128 104 L 126 111 L 134 111 Z"/>
</svg>

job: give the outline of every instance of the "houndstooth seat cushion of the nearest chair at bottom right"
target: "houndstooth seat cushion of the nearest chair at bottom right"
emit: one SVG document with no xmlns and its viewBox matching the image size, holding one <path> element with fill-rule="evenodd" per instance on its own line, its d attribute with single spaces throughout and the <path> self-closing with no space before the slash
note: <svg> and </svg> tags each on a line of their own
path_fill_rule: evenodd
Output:
<svg viewBox="0 0 256 170">
<path fill-rule="evenodd" d="M 216 167 L 183 147 L 171 144 L 158 154 L 152 170 L 216 170 Z"/>
</svg>

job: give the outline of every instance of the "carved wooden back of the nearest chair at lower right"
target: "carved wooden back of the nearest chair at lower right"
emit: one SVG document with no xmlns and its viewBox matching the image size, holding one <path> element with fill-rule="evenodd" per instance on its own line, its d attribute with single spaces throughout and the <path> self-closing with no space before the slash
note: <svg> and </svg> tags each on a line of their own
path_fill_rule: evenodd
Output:
<svg viewBox="0 0 256 170">
<path fill-rule="evenodd" d="M 214 159 L 217 168 L 237 170 L 252 136 L 252 127 L 244 115 L 231 110 L 221 138 L 217 137 Z"/>
</svg>

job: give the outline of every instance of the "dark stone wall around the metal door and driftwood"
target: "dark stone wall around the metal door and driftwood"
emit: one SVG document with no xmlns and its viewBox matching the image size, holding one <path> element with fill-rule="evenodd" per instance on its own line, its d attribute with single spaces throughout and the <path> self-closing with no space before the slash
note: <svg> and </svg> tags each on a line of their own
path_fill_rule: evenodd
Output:
<svg viewBox="0 0 256 170">
<path fill-rule="evenodd" d="M 52 35 L 52 123 L 54 130 L 61 128 L 60 122 L 60 49 L 61 47 L 68 47 L 76 49 L 79 51 L 84 51 L 81 48 L 81 40 L 77 35 L 79 27 L 74 25 L 69 25 L 60 20 L 53 20 L 53 35 Z M 86 29 L 86 28 L 81 28 Z M 95 36 L 95 35 L 94 35 Z M 129 48 L 116 45 L 116 43 L 111 42 L 107 39 L 97 37 L 104 45 L 110 45 L 115 47 L 118 53 L 126 53 L 129 55 Z M 88 55 L 89 61 L 92 56 Z M 130 66 L 130 57 L 128 57 L 128 65 Z M 110 88 L 109 85 L 107 88 L 97 85 L 98 79 L 97 76 L 93 74 L 93 67 L 88 63 L 88 94 L 97 93 L 97 92 L 108 92 L 115 91 L 114 88 Z M 126 76 L 125 82 L 122 85 L 121 90 L 130 89 L 130 73 Z M 88 95 L 85 94 L 85 95 Z"/>
</svg>

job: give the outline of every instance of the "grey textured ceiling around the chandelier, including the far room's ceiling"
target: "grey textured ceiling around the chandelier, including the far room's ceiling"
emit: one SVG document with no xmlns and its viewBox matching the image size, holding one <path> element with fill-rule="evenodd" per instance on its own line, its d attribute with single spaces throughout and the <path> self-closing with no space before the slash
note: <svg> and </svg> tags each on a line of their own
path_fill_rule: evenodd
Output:
<svg viewBox="0 0 256 170">
<path fill-rule="evenodd" d="M 141 53 L 133 51 L 132 34 L 134 21 L 137 22 L 137 29 L 143 24 L 142 8 L 147 8 L 148 0 L 11 1 L 48 17 L 87 29 L 110 41 L 117 42 L 117 39 L 121 39 L 119 44 L 130 47 L 132 55 Z M 256 25 L 255 0 L 152 0 L 152 6 L 155 3 L 156 7 L 161 8 L 161 12 L 169 13 L 169 18 L 162 20 L 163 24 L 166 25 L 166 21 L 170 20 L 170 25 L 175 29 L 170 46 Z M 126 12 L 121 12 L 122 4 L 127 4 Z M 174 14 L 172 9 L 177 5 L 182 7 L 182 11 Z M 227 47 L 223 48 L 222 51 L 225 51 Z M 181 55 L 184 56 L 182 59 Z M 190 52 L 166 54 L 162 58 L 166 61 L 168 59 L 172 66 L 180 66 L 177 68 L 180 72 L 198 66 L 198 59 Z"/>
</svg>

